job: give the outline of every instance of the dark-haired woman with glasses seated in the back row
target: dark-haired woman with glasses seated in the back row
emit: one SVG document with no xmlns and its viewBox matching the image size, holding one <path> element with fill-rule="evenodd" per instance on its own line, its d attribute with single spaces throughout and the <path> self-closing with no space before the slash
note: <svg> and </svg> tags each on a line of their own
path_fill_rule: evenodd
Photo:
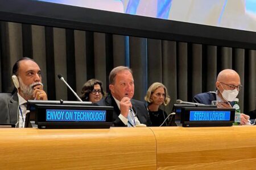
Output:
<svg viewBox="0 0 256 170">
<path fill-rule="evenodd" d="M 90 101 L 92 103 L 96 103 L 105 96 L 105 93 L 102 88 L 102 82 L 96 79 L 90 79 L 85 82 L 82 87 L 81 99 L 82 101 Z"/>
</svg>

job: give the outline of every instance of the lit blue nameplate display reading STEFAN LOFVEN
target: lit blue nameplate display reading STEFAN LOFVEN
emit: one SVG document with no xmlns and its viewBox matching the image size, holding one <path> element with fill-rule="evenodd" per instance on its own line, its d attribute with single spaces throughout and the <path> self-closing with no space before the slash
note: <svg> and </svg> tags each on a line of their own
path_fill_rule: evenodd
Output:
<svg viewBox="0 0 256 170">
<path fill-rule="evenodd" d="M 230 111 L 190 111 L 189 121 L 230 121 Z"/>
</svg>

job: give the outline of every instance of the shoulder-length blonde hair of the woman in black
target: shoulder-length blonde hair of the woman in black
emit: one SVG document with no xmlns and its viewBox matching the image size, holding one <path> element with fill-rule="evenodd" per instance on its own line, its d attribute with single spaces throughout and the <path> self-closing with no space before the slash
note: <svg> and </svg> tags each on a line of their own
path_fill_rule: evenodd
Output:
<svg viewBox="0 0 256 170">
<path fill-rule="evenodd" d="M 171 98 L 170 96 L 168 96 L 168 92 L 166 89 L 166 86 L 164 86 L 162 83 L 160 82 L 154 82 L 147 90 L 146 96 L 144 97 L 145 101 L 148 103 L 152 103 L 152 99 L 150 98 L 151 94 L 155 92 L 155 90 L 157 88 L 163 88 L 164 89 L 164 93 L 165 93 L 165 97 L 164 97 L 164 106 L 168 105 L 168 103 L 170 102 Z"/>
</svg>

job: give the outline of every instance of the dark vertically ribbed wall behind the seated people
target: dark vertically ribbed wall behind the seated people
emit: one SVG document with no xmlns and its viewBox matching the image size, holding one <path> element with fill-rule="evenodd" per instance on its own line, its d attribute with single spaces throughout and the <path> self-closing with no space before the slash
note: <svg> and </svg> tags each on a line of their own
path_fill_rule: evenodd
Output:
<svg viewBox="0 0 256 170">
<path fill-rule="evenodd" d="M 163 82 L 171 96 L 166 107 L 170 111 L 176 99 L 192 101 L 197 93 L 216 90 L 218 72 L 232 68 L 241 76 L 238 98 L 243 112 L 255 109 L 255 50 L 12 22 L 0 26 L 0 92 L 13 89 L 11 68 L 23 56 L 39 64 L 52 100 L 76 100 L 58 80 L 59 73 L 78 94 L 90 78 L 103 81 L 108 91 L 109 72 L 126 65 L 134 72 L 134 98 L 143 101 L 148 86 Z"/>
</svg>

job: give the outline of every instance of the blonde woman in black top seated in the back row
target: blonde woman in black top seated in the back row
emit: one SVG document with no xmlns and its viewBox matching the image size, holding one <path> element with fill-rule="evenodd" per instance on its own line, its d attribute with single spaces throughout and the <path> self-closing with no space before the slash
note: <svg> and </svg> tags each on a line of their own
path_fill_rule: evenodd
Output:
<svg viewBox="0 0 256 170">
<path fill-rule="evenodd" d="M 160 126 L 167 118 L 167 114 L 164 110 L 159 109 L 161 105 L 168 105 L 170 102 L 170 97 L 166 86 L 160 82 L 154 82 L 147 90 L 145 96 L 145 101 L 148 103 L 147 109 L 150 115 L 150 121 L 152 126 Z M 167 126 L 168 122 L 166 121 L 162 126 Z"/>
</svg>

